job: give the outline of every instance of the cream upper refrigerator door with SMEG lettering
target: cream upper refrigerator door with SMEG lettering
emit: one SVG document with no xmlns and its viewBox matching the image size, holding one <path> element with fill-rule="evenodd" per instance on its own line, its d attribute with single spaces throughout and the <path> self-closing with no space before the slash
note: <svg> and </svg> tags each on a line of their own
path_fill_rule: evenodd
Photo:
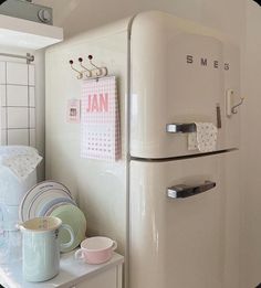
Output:
<svg viewBox="0 0 261 288">
<path fill-rule="evenodd" d="M 239 114 L 231 109 L 241 96 L 239 50 L 225 36 L 166 13 L 142 13 L 132 25 L 130 63 L 133 157 L 199 153 L 188 150 L 195 122 L 219 127 L 217 150 L 238 147 Z"/>
</svg>

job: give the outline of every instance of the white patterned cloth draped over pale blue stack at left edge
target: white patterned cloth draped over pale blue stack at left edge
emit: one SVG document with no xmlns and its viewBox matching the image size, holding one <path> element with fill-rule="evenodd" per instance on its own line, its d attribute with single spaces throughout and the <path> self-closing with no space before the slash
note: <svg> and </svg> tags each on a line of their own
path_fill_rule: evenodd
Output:
<svg viewBox="0 0 261 288">
<path fill-rule="evenodd" d="M 0 164 L 20 180 L 25 180 L 42 161 L 38 150 L 28 146 L 0 146 Z"/>
</svg>

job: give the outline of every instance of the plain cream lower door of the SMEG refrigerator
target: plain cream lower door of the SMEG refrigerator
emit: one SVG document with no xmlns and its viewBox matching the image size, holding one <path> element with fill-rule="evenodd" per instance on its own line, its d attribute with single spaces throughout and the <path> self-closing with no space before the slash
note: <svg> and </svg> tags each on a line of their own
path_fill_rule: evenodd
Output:
<svg viewBox="0 0 261 288">
<path fill-rule="evenodd" d="M 237 153 L 130 162 L 130 288 L 239 287 Z"/>
</svg>

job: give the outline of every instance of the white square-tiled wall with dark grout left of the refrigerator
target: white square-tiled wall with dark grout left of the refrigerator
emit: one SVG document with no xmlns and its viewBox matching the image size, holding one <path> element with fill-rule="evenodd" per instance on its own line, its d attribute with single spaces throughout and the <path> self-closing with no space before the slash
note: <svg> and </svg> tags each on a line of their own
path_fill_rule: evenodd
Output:
<svg viewBox="0 0 261 288">
<path fill-rule="evenodd" d="M 35 146 L 34 65 L 0 62 L 0 145 Z"/>
</svg>

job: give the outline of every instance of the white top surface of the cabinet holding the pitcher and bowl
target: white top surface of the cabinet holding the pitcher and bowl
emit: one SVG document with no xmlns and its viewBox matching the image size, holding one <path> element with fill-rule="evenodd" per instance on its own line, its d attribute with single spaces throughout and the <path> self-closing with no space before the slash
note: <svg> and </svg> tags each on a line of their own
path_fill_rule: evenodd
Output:
<svg viewBox="0 0 261 288">
<path fill-rule="evenodd" d="M 109 262 L 101 265 L 88 265 L 79 262 L 74 259 L 74 252 L 62 254 L 59 275 L 44 282 L 25 281 L 22 277 L 22 263 L 13 262 L 12 264 L 0 266 L 0 284 L 6 288 L 76 287 L 77 285 L 81 285 L 85 281 L 87 282 L 88 279 L 102 275 L 109 269 L 118 267 L 118 271 L 121 271 L 123 262 L 124 257 L 116 253 L 114 253 L 113 258 Z M 115 287 L 121 286 L 117 284 Z"/>
</svg>

